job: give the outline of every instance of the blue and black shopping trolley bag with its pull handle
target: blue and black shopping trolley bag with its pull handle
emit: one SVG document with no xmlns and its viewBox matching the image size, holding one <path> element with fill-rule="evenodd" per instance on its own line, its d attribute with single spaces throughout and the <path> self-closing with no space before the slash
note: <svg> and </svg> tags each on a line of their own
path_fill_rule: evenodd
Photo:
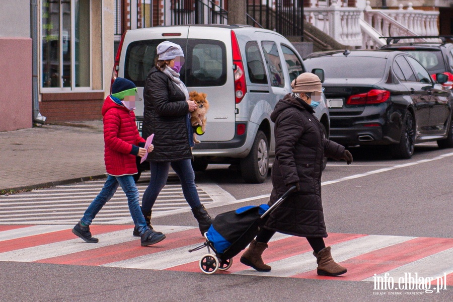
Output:
<svg viewBox="0 0 453 302">
<path fill-rule="evenodd" d="M 291 187 L 271 207 L 267 204 L 250 205 L 215 216 L 206 238 L 212 243 L 219 260 L 229 260 L 244 250 L 261 231 L 269 214 L 295 188 Z"/>
</svg>

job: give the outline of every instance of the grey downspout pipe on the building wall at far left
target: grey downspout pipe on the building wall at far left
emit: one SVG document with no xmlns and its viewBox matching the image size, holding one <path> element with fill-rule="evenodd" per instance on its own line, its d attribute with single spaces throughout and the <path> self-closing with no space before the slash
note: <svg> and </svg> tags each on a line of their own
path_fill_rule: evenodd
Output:
<svg viewBox="0 0 453 302">
<path fill-rule="evenodd" d="M 39 112 L 38 98 L 38 0 L 30 0 L 31 9 L 31 38 L 32 38 L 32 99 L 33 122 L 40 125 L 46 122 L 46 117 Z"/>
</svg>

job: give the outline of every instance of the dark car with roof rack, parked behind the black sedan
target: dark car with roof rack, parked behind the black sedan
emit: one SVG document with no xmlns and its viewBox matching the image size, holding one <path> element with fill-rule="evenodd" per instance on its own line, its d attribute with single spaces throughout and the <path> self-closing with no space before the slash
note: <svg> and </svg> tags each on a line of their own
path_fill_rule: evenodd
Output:
<svg viewBox="0 0 453 302">
<path fill-rule="evenodd" d="M 398 36 L 383 37 L 387 45 L 381 49 L 399 50 L 413 55 L 435 80 L 436 73 L 448 75 L 443 86 L 453 88 L 453 36 Z M 410 40 L 438 39 L 439 42 L 408 42 Z M 449 42 L 447 42 L 449 41 Z"/>
</svg>

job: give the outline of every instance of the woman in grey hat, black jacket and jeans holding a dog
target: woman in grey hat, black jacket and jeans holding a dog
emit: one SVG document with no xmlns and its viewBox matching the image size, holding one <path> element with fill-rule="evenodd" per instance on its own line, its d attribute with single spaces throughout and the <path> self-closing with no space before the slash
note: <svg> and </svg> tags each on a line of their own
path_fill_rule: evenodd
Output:
<svg viewBox="0 0 453 302">
<path fill-rule="evenodd" d="M 141 210 L 150 225 L 151 210 L 167 183 L 170 166 L 178 175 L 184 197 L 198 221 L 201 234 L 209 229 L 212 218 L 201 204 L 192 168 L 193 129 L 190 112 L 197 108 L 179 79 L 184 53 L 178 44 L 164 41 L 157 46 L 156 64 L 148 73 L 143 90 L 143 137 L 154 133 L 154 151 L 147 155 L 151 179 Z M 135 230 L 134 230 L 135 235 Z"/>
</svg>

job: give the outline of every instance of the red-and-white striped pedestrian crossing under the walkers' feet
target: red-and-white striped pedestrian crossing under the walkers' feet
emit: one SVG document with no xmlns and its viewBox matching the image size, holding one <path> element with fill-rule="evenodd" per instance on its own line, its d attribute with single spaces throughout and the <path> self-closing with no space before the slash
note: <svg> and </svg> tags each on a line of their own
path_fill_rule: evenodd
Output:
<svg viewBox="0 0 453 302">
<path fill-rule="evenodd" d="M 92 225 L 99 243 L 89 244 L 71 233 L 72 225 L 34 225 L 0 228 L 0 261 L 39 262 L 71 265 L 173 270 L 201 273 L 198 262 L 207 248 L 189 253 L 204 242 L 198 228 L 161 225 L 156 229 L 167 238 L 141 247 L 132 236 L 133 225 Z M 29 236 L 25 236 L 29 235 Z M 18 236 L 15 238 L 15 236 Z M 257 272 L 240 263 L 242 253 L 223 274 L 372 281 L 374 274 L 398 278 L 418 273 L 434 279 L 446 275 L 453 285 L 453 239 L 331 233 L 325 240 L 332 246 L 336 262 L 348 268 L 340 277 L 318 276 L 316 258 L 304 238 L 276 234 L 263 254 L 270 272 Z M 212 252 L 212 251 L 211 251 Z"/>
</svg>

